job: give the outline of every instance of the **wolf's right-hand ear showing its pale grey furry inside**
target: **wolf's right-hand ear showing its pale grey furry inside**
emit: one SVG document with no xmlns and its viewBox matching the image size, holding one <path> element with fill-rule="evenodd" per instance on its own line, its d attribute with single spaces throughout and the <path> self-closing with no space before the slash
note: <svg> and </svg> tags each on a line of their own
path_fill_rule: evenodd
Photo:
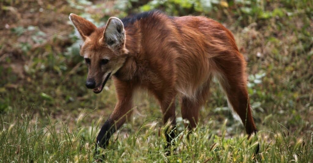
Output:
<svg viewBox="0 0 313 163">
<path fill-rule="evenodd" d="M 123 22 L 117 17 L 110 17 L 105 25 L 102 40 L 109 47 L 123 48 L 125 43 L 125 30 Z"/>
</svg>

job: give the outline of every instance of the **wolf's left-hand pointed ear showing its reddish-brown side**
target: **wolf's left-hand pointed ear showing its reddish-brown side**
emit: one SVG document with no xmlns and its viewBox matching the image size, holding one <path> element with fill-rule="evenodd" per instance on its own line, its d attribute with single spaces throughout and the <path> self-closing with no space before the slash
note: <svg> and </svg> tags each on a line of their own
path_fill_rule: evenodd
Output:
<svg viewBox="0 0 313 163">
<path fill-rule="evenodd" d="M 97 28 L 92 22 L 73 13 L 69 14 L 69 20 L 74 24 L 76 32 L 79 33 L 78 36 L 80 36 L 83 41 Z"/>
</svg>

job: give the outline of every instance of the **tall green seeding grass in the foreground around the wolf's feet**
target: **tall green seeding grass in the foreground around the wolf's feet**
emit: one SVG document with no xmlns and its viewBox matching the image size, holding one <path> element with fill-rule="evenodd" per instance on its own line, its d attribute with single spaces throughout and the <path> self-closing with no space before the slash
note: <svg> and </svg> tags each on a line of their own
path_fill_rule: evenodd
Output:
<svg viewBox="0 0 313 163">
<path fill-rule="evenodd" d="M 43 111 L 46 112 L 46 111 Z M 299 131 L 290 132 L 279 124 L 277 131 L 259 131 L 249 139 L 244 134 L 227 136 L 227 121 L 217 133 L 213 120 L 199 125 L 189 135 L 183 122 L 177 118 L 178 136 L 166 156 L 165 137 L 158 120 L 144 118 L 137 130 L 127 123 L 110 140 L 107 150 L 94 155 L 95 136 L 102 118 L 92 123 L 82 123 L 92 114 L 83 111 L 75 121 L 56 122 L 46 116 L 48 123 L 23 112 L 18 116 L 0 116 L 0 161 L 9 162 L 311 162 L 313 156 L 313 133 L 306 141 L 298 137 Z M 14 120 L 13 120 L 14 119 Z M 133 121 L 137 121 L 136 118 Z M 75 123 L 74 127 L 69 127 Z M 126 132 L 127 131 L 127 132 Z M 255 148 L 260 153 L 255 156 Z M 105 157 L 102 157 L 104 155 Z"/>
</svg>

